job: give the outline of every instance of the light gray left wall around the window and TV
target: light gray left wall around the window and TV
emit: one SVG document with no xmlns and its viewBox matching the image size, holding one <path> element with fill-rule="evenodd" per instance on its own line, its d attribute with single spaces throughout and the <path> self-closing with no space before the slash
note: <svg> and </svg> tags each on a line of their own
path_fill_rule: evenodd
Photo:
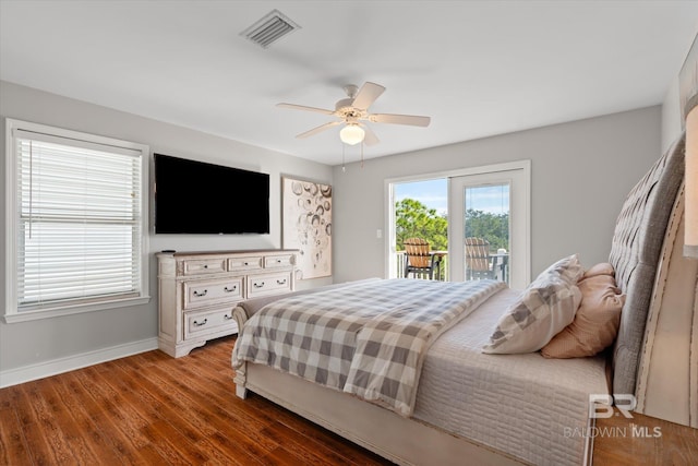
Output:
<svg viewBox="0 0 698 466">
<path fill-rule="evenodd" d="M 234 250 L 280 248 L 280 177 L 282 175 L 332 183 L 332 168 L 289 157 L 272 151 L 254 147 L 141 118 L 105 107 L 69 99 L 0 82 L 0 306 L 4 306 L 4 119 L 50 124 L 87 133 L 101 134 L 148 144 L 152 152 L 258 170 L 270 175 L 270 234 L 245 236 L 178 236 L 151 235 L 152 252 L 163 249 Z M 151 302 L 146 306 L 87 312 L 39 321 L 0 323 L 0 374 L 9 369 L 38 365 L 45 361 L 75 357 L 104 348 L 118 347 L 157 336 L 157 268 L 151 255 Z M 300 287 L 323 285 L 329 278 L 306 280 Z M 2 382 L 2 381 L 0 381 Z M 0 383 L 1 385 L 1 383 Z"/>
</svg>

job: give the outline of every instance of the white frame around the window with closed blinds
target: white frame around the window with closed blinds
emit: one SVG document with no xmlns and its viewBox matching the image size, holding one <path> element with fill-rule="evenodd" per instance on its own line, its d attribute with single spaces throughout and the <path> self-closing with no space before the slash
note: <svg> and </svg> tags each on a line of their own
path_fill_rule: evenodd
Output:
<svg viewBox="0 0 698 466">
<path fill-rule="evenodd" d="M 141 258 L 140 267 L 140 292 L 131 297 L 112 297 L 98 299 L 91 302 L 57 302 L 53 306 L 37 310 L 20 311 L 17 301 L 17 255 L 20 244 L 17 243 L 19 218 L 17 218 L 17 154 L 15 130 L 36 132 L 65 140 L 77 140 L 92 144 L 116 146 L 140 152 L 141 163 Z M 67 141 L 68 142 L 68 141 Z M 107 309 L 124 308 L 145 304 L 149 297 L 149 259 L 148 259 L 148 206 L 149 206 L 149 146 L 145 144 L 106 138 L 80 131 L 67 130 L 50 127 L 47 124 L 33 123 L 16 119 L 5 119 L 5 306 L 4 313 L 1 314 L 3 322 L 25 322 L 39 319 L 49 319 L 60 315 L 70 315 L 83 312 L 103 311 Z"/>
</svg>

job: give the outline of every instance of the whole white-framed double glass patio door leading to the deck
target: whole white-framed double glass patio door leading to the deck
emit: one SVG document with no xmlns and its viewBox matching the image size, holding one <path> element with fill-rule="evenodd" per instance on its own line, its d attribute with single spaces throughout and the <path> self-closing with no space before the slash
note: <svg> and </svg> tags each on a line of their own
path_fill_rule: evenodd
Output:
<svg viewBox="0 0 698 466">
<path fill-rule="evenodd" d="M 435 279 L 530 279 L 530 162 L 386 180 L 386 276 L 405 276 L 404 240 L 429 241 Z M 382 231 L 378 231 L 378 237 Z"/>
</svg>

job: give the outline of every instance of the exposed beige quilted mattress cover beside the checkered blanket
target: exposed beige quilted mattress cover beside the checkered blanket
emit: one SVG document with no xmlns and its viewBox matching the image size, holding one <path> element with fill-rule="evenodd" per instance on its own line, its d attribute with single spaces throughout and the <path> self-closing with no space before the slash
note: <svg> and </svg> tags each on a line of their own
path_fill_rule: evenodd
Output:
<svg viewBox="0 0 698 466">
<path fill-rule="evenodd" d="M 535 465 L 580 465 L 589 394 L 607 393 L 604 360 L 482 354 L 519 292 L 498 292 L 434 342 L 413 417 Z"/>
</svg>

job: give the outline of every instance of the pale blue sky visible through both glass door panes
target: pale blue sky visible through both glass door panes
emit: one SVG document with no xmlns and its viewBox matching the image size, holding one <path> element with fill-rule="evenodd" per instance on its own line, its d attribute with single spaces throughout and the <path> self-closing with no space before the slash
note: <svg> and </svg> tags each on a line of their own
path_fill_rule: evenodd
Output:
<svg viewBox="0 0 698 466">
<path fill-rule="evenodd" d="M 482 186 L 469 188 L 467 207 L 477 211 L 502 214 L 509 211 L 508 187 Z M 503 202 L 503 196 L 505 201 Z M 413 181 L 395 184 L 395 201 L 414 199 L 441 215 L 448 213 L 448 180 L 440 178 L 428 181 Z"/>
</svg>

